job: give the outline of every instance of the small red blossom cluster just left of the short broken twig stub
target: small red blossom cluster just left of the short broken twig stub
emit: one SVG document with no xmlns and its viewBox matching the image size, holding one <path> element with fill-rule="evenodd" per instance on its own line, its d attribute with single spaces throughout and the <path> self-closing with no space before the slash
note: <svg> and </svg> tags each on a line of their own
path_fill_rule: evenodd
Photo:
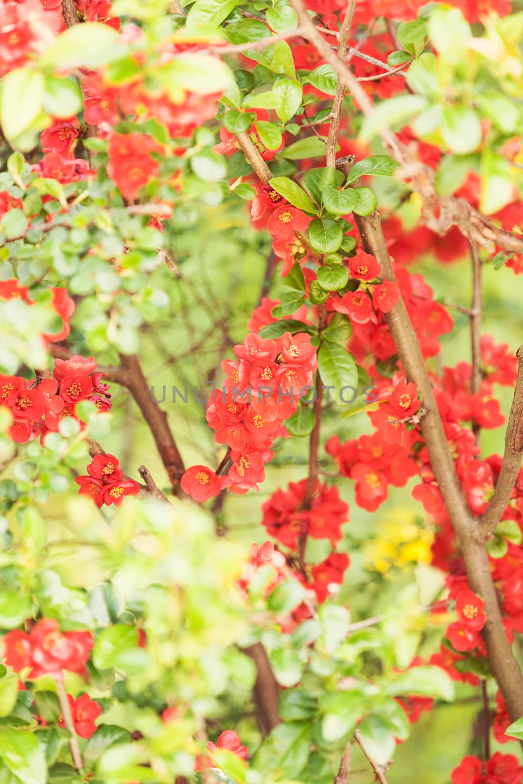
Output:
<svg viewBox="0 0 523 784">
<path fill-rule="evenodd" d="M 80 485 L 79 495 L 93 499 L 96 506 L 122 506 L 125 495 L 137 495 L 140 485 L 133 479 L 125 478 L 119 467 L 118 459 L 107 452 L 96 455 L 87 466 L 87 475 L 76 477 Z"/>
</svg>

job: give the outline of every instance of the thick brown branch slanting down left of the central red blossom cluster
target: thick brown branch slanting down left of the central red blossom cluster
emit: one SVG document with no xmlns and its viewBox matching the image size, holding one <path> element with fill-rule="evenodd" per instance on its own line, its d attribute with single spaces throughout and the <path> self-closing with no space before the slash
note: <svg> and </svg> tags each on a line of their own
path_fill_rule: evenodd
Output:
<svg viewBox="0 0 523 784">
<path fill-rule="evenodd" d="M 167 414 L 162 411 L 151 395 L 147 379 L 143 375 L 140 362 L 136 354 L 120 355 L 120 374 L 118 383 L 122 383 L 133 395 L 133 399 L 140 408 L 143 419 L 147 422 L 154 437 L 156 448 L 162 458 L 169 481 L 173 486 L 175 495 L 182 495 L 180 480 L 185 472 L 183 460 L 169 428 Z"/>
</svg>

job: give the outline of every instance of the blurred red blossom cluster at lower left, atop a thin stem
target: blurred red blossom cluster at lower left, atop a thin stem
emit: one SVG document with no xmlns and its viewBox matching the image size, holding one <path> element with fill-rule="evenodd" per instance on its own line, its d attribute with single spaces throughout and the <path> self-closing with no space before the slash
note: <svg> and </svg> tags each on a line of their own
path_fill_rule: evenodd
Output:
<svg viewBox="0 0 523 784">
<path fill-rule="evenodd" d="M 89 631 L 61 632 L 60 624 L 45 618 L 35 623 L 30 633 L 13 630 L 3 637 L 5 662 L 17 673 L 29 669 L 29 679 L 52 675 L 64 680 L 63 670 L 82 672 L 93 648 Z"/>
</svg>

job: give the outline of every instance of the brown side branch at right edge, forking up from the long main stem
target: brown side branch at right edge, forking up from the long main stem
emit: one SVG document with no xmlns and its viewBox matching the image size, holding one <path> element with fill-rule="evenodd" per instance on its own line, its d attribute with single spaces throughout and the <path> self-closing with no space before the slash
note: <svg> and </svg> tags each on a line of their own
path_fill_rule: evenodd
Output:
<svg viewBox="0 0 523 784">
<path fill-rule="evenodd" d="M 492 539 L 518 478 L 523 454 L 523 346 L 518 348 L 518 378 L 505 434 L 505 453 L 494 495 L 478 524 L 479 539 Z M 520 716 L 523 715 L 523 710 Z"/>
</svg>

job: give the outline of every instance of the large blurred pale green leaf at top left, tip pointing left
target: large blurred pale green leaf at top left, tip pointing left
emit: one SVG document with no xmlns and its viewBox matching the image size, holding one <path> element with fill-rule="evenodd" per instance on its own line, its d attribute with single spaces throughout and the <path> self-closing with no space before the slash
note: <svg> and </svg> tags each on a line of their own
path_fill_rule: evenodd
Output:
<svg viewBox="0 0 523 784">
<path fill-rule="evenodd" d="M 40 64 L 64 70 L 102 65 L 111 60 L 110 53 L 118 52 L 117 38 L 118 33 L 101 22 L 74 24 L 45 49 Z"/>
</svg>

